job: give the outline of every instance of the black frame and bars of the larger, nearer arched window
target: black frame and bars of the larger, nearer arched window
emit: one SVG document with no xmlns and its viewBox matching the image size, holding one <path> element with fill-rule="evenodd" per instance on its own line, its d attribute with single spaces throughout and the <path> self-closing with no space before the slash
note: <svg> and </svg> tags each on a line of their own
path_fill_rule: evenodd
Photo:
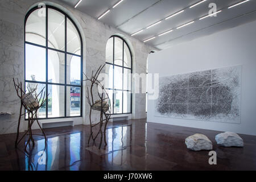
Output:
<svg viewBox="0 0 256 182">
<path fill-rule="evenodd" d="M 34 12 L 35 10 L 41 9 L 41 8 L 46 8 L 46 46 L 42 46 L 39 44 L 35 44 L 35 43 L 31 43 L 31 42 L 27 42 L 26 41 L 26 23 L 27 23 L 27 19 L 30 16 L 30 14 L 32 12 Z M 63 14 L 65 16 L 65 50 L 61 51 L 59 49 L 55 49 L 55 48 L 51 48 L 48 47 L 48 9 L 53 9 L 56 11 L 59 11 L 59 13 Z M 70 20 L 73 24 L 73 26 L 75 26 L 78 34 L 79 34 L 79 38 L 80 38 L 80 43 L 81 43 L 81 53 L 80 55 L 76 55 L 75 53 L 71 53 L 67 51 L 67 20 Z M 46 81 L 31 81 L 31 80 L 26 80 L 26 44 L 30 44 L 32 46 L 36 46 L 36 47 L 41 47 L 41 48 L 45 48 L 46 49 Z M 48 82 L 48 50 L 52 50 L 52 51 L 56 51 L 56 52 L 61 52 L 64 53 L 65 55 L 65 83 L 64 84 L 60 84 L 60 83 L 52 83 L 52 82 Z M 72 55 L 72 56 L 78 56 L 81 58 L 81 64 L 80 64 L 80 69 L 81 69 L 81 77 L 80 77 L 80 85 L 73 85 L 73 84 L 67 84 L 67 55 Z M 64 13 L 64 11 L 58 9 L 57 7 L 54 6 L 49 6 L 46 5 L 45 7 L 38 7 L 35 6 L 33 7 L 30 11 L 28 11 L 28 13 L 25 16 L 24 19 L 24 90 L 26 90 L 26 83 L 31 82 L 31 83 L 35 83 L 35 84 L 44 84 L 46 85 L 45 87 L 45 92 L 46 92 L 46 117 L 44 118 L 38 118 L 38 119 L 59 119 L 59 118 L 78 118 L 78 117 L 82 117 L 82 58 L 83 58 L 83 43 L 82 43 L 82 36 L 81 33 L 79 31 L 79 28 L 77 27 L 76 23 L 72 20 L 72 18 L 70 18 L 66 13 Z M 48 117 L 48 85 L 59 85 L 59 86 L 64 86 L 64 117 Z M 75 116 L 67 116 L 67 87 L 79 87 L 80 88 L 80 115 L 75 115 Z M 26 119 L 26 115 L 24 115 L 25 120 Z"/>
</svg>

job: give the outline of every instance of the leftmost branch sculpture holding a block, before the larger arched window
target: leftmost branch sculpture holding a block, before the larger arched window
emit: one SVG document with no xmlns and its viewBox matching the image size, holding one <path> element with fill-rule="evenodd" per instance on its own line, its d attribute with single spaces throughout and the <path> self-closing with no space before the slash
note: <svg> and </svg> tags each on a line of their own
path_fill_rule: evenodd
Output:
<svg viewBox="0 0 256 182">
<path fill-rule="evenodd" d="M 28 133 L 28 140 L 27 140 L 26 147 L 25 147 L 25 151 L 27 151 L 26 148 L 27 148 L 27 145 L 30 144 L 30 142 L 32 142 L 33 147 L 35 146 L 35 140 L 32 136 L 32 125 L 35 121 L 38 123 L 38 125 L 40 127 L 40 130 L 43 133 L 43 136 L 44 136 L 44 139 L 45 139 L 45 144 L 47 143 L 46 134 L 44 133 L 42 127 L 40 126 L 39 121 L 38 121 L 38 116 L 37 116 L 38 110 L 46 102 L 46 97 L 45 97 L 46 93 L 43 92 L 43 90 L 44 90 L 44 88 L 43 88 L 38 94 L 36 94 L 35 90 L 37 89 L 37 85 L 36 85 L 36 88 L 34 90 L 29 90 L 28 89 L 28 92 L 26 93 L 26 92 L 23 91 L 22 82 L 19 82 L 18 78 L 17 78 L 17 83 L 15 82 L 14 78 L 13 78 L 13 82 L 14 82 L 14 87 L 15 87 L 17 96 L 20 98 L 19 121 L 18 121 L 17 134 L 16 134 L 16 140 L 15 140 L 15 148 L 18 146 L 20 141 Z M 40 103 L 40 101 L 42 101 L 42 102 Z M 22 114 L 22 107 L 25 108 L 24 114 Z M 25 114 L 28 115 L 27 131 L 19 139 L 20 119 L 21 119 L 22 115 L 25 115 Z"/>
</svg>

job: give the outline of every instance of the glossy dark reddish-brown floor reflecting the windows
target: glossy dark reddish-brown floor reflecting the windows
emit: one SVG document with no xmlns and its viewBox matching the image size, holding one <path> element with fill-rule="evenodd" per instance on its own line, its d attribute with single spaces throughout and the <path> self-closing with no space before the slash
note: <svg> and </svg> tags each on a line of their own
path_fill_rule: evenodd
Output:
<svg viewBox="0 0 256 182">
<path fill-rule="evenodd" d="M 36 146 L 24 152 L 25 141 L 14 148 L 15 134 L 0 135 L 0 170 L 256 170 L 256 137 L 240 135 L 245 146 L 217 146 L 218 131 L 146 123 L 145 119 L 109 123 L 108 154 L 86 150 L 89 127 L 45 129 L 35 135 Z M 34 130 L 39 134 L 39 130 Z M 201 133 L 213 142 L 217 165 L 209 165 L 209 151 L 190 151 L 184 140 Z M 96 144 L 98 144 L 98 140 Z"/>
</svg>

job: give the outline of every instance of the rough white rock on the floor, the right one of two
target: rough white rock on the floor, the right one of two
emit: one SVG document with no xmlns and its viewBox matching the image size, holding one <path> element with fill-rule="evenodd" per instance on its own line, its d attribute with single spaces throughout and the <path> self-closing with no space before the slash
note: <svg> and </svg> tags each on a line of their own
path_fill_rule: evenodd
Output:
<svg viewBox="0 0 256 182">
<path fill-rule="evenodd" d="M 225 147 L 243 147 L 243 139 L 236 133 L 226 131 L 216 135 L 217 144 Z"/>
</svg>

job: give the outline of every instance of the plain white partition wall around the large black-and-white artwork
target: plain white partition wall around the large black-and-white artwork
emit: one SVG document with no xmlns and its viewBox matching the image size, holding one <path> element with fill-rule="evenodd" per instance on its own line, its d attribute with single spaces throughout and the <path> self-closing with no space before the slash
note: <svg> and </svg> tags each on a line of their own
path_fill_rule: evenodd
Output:
<svg viewBox="0 0 256 182">
<path fill-rule="evenodd" d="M 154 100 L 147 101 L 147 122 L 256 135 L 256 21 L 148 56 L 148 73 L 159 77 L 236 65 L 242 65 L 240 124 L 156 117 Z"/>
</svg>

